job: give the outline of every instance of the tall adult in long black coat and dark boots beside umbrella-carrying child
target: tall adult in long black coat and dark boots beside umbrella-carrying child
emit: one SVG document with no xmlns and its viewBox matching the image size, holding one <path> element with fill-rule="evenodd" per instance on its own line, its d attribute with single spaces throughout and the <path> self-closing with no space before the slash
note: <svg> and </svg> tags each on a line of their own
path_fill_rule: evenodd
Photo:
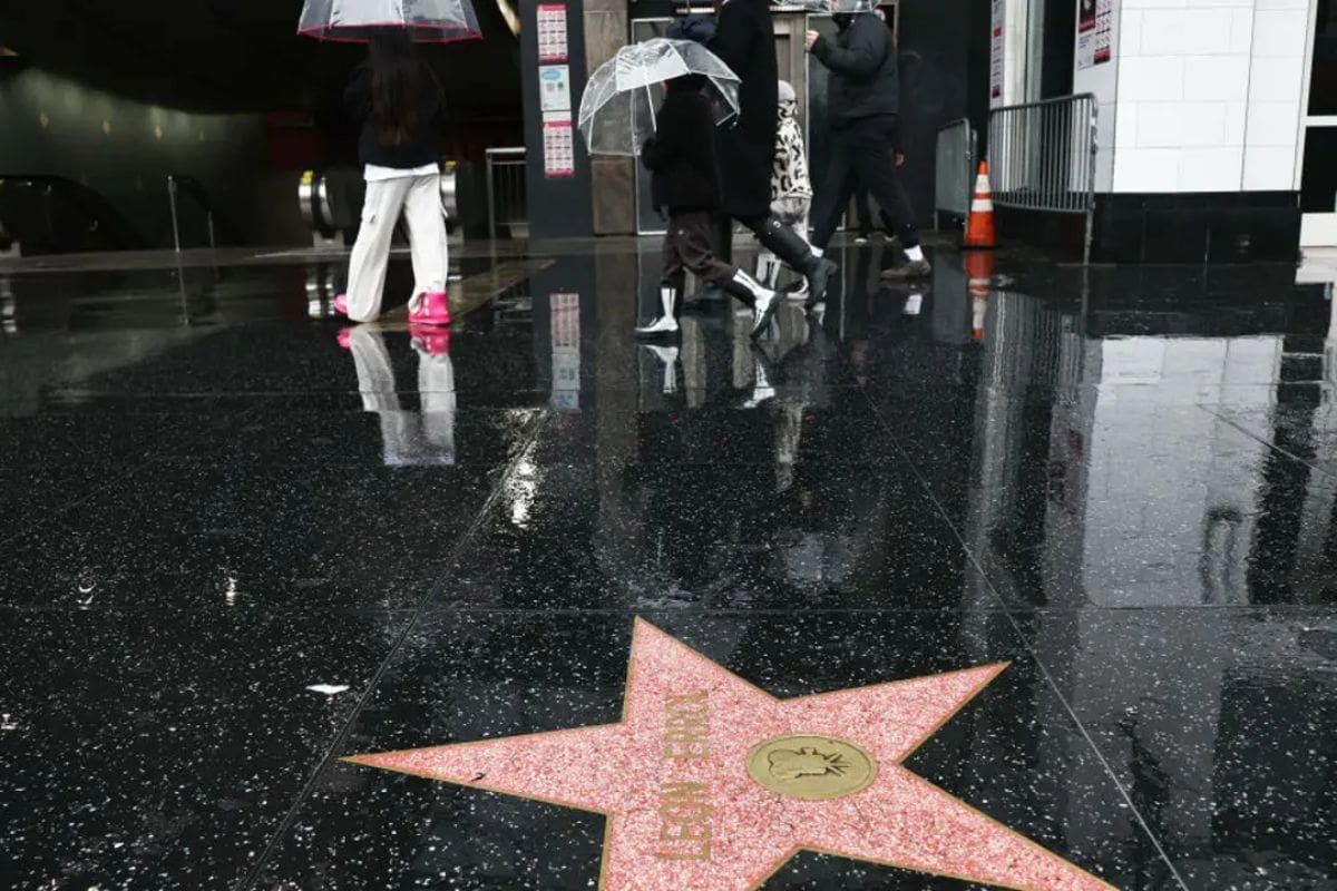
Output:
<svg viewBox="0 0 1337 891">
<path fill-rule="evenodd" d="M 738 75 L 738 120 L 719 132 L 717 155 L 723 175 L 723 211 L 767 250 L 808 277 L 812 299 L 821 301 L 837 267 L 770 212 L 770 171 L 779 124 L 779 69 L 775 27 L 767 0 L 727 0 L 713 33 L 699 17 L 668 28 L 670 37 L 703 41 Z M 729 235 L 725 235 L 727 240 Z"/>
</svg>

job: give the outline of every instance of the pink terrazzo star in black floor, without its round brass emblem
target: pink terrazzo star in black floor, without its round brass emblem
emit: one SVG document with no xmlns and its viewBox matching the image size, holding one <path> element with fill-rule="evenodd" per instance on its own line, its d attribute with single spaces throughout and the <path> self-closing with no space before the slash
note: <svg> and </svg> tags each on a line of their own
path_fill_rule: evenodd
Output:
<svg viewBox="0 0 1337 891">
<path fill-rule="evenodd" d="M 746 891 L 797 851 L 1017 891 L 1112 886 L 901 767 L 1007 665 L 777 700 L 636 620 L 620 724 L 348 759 L 603 814 L 604 891 Z M 866 788 L 828 800 L 749 773 L 783 736 L 852 743 Z"/>
</svg>

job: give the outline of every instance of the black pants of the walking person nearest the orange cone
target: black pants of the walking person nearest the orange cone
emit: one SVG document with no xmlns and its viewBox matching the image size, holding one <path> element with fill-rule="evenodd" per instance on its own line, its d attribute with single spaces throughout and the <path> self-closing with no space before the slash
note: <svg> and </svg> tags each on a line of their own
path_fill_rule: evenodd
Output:
<svg viewBox="0 0 1337 891">
<path fill-rule="evenodd" d="M 813 211 L 813 244 L 825 248 L 840 226 L 849 200 L 860 184 L 877 199 L 888 222 L 896 227 L 901 247 L 919 244 L 915 211 L 896 171 L 896 115 L 865 118 L 832 134 L 832 159 L 826 178 L 817 190 Z"/>
</svg>

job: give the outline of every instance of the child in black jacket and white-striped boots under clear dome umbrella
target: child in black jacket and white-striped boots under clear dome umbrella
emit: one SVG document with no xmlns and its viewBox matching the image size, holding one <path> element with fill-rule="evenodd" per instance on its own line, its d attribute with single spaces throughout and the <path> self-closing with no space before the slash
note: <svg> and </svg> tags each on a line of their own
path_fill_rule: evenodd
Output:
<svg viewBox="0 0 1337 891">
<path fill-rule="evenodd" d="M 659 283 L 662 313 L 636 329 L 639 337 L 678 334 L 687 271 L 750 306 L 753 337 L 761 334 L 774 311 L 775 293 L 718 259 L 710 247 L 710 215 L 719 207 L 721 186 L 714 152 L 715 120 L 702 95 L 705 85 L 701 75 L 670 80 L 655 135 L 640 148 L 640 160 L 651 172 L 655 207 L 668 214 L 668 230 Z"/>
</svg>

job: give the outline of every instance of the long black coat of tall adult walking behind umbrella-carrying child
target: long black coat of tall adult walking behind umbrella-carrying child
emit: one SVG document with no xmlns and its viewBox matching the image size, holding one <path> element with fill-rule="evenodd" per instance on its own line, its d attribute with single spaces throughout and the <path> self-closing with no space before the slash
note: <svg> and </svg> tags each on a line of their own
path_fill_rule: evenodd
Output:
<svg viewBox="0 0 1337 891">
<path fill-rule="evenodd" d="M 779 128 L 779 72 L 769 1 L 729 0 L 706 45 L 741 81 L 737 126 L 722 127 L 715 140 L 723 210 L 731 216 L 766 216 Z"/>
</svg>

